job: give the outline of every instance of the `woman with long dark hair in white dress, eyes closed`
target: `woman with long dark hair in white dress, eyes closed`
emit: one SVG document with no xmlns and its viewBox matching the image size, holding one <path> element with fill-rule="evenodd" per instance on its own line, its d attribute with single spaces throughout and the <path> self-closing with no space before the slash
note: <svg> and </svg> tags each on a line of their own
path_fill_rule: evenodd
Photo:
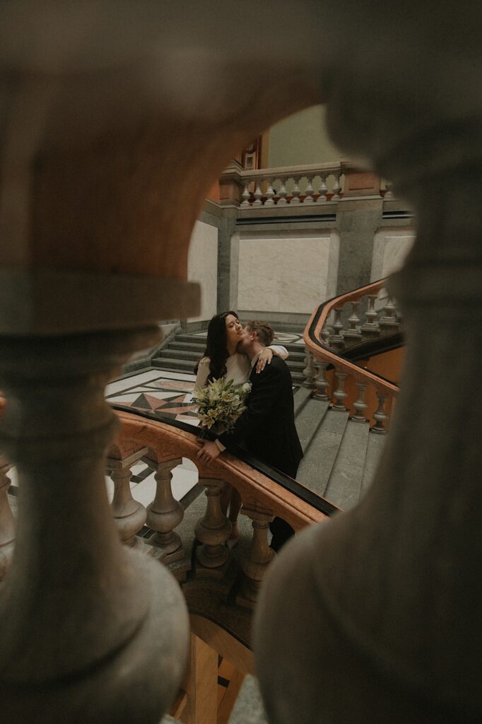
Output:
<svg viewBox="0 0 482 724">
<path fill-rule="evenodd" d="M 246 355 L 236 351 L 242 337 L 242 324 L 233 311 L 215 314 L 208 324 L 208 339 L 203 357 L 195 366 L 196 387 L 206 387 L 213 379 L 223 377 L 226 382 L 232 379 L 233 384 L 248 382 L 251 364 Z M 261 372 L 271 362 L 273 355 L 287 359 L 288 352 L 282 345 L 270 345 L 264 348 L 256 363 L 256 372 Z M 237 542 L 237 516 L 241 508 L 240 494 L 231 485 L 225 484 L 221 492 L 221 509 L 227 515 L 229 505 L 229 521 L 231 535 L 229 546 Z"/>
</svg>

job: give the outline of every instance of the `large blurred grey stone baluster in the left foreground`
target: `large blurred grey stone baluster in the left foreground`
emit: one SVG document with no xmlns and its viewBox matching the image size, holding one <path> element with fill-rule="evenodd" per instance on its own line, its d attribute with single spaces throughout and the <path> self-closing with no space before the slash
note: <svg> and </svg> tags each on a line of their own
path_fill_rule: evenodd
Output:
<svg viewBox="0 0 482 724">
<path fill-rule="evenodd" d="M 0 443 L 20 491 L 0 592 L 6 721 L 39 721 L 41 710 L 43 721 L 59 722 L 62 707 L 64 721 L 80 721 L 81 708 L 85 723 L 119 712 L 153 722 L 179 686 L 184 597 L 164 566 L 122 545 L 105 482 L 105 451 L 119 431 L 105 386 L 132 349 L 158 338 L 149 327 L 2 339 Z"/>
</svg>

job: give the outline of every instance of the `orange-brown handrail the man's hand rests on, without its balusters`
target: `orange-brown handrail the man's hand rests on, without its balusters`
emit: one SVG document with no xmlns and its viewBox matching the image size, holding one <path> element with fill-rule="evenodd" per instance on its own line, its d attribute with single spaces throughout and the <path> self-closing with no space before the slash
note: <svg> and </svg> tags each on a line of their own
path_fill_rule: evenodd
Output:
<svg viewBox="0 0 482 724">
<path fill-rule="evenodd" d="M 115 412 L 121 430 L 117 441 L 111 446 L 109 457 L 124 459 L 141 447 L 148 447 L 148 456 L 156 463 L 189 458 L 197 466 L 200 478 L 219 479 L 231 484 L 240 493 L 245 505 L 279 515 L 295 531 L 329 517 L 228 452 L 209 465 L 203 464 L 196 458 L 199 447 L 195 432 L 187 432 L 167 422 L 149 420 L 134 413 Z"/>
</svg>

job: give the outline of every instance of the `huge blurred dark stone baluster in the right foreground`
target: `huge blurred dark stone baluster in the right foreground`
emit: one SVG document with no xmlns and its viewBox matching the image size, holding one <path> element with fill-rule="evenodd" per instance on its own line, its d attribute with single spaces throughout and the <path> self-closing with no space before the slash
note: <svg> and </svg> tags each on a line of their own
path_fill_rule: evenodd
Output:
<svg viewBox="0 0 482 724">
<path fill-rule="evenodd" d="M 339 7 L 331 26 L 350 59 L 333 79 L 334 140 L 371 157 L 418 219 L 415 245 L 388 285 L 406 321 L 404 374 L 366 496 L 274 560 L 258 602 L 256 670 L 276 724 L 310 724 L 313 712 L 324 724 L 475 724 L 481 6 L 438 4 L 434 34 L 435 4 L 392 4 L 390 15 L 347 5 L 352 15 Z"/>
</svg>

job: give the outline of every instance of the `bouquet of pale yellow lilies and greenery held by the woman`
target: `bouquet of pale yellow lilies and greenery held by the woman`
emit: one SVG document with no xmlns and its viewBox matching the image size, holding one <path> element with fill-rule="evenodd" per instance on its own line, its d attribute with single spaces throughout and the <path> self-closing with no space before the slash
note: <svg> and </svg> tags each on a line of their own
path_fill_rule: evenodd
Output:
<svg viewBox="0 0 482 724">
<path fill-rule="evenodd" d="M 198 406 L 196 415 L 201 429 L 211 432 L 226 432 L 234 426 L 237 418 L 245 411 L 245 398 L 251 390 L 251 383 L 234 385 L 232 379 L 213 379 L 207 387 L 195 387 L 193 403 Z"/>
</svg>

